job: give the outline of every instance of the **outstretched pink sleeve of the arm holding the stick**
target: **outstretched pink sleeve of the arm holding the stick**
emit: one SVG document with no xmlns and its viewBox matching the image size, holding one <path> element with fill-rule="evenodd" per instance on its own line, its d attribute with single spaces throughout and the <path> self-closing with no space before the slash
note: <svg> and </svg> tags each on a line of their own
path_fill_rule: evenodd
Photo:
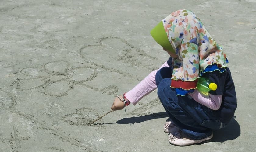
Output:
<svg viewBox="0 0 256 152">
<path fill-rule="evenodd" d="M 159 68 L 169 67 L 167 61 Z M 159 70 L 158 69 L 158 70 Z M 133 104 L 136 105 L 144 96 L 154 91 L 157 86 L 155 83 L 155 74 L 158 70 L 152 71 L 146 78 L 140 81 L 132 90 L 126 93 L 126 98 Z"/>
</svg>

